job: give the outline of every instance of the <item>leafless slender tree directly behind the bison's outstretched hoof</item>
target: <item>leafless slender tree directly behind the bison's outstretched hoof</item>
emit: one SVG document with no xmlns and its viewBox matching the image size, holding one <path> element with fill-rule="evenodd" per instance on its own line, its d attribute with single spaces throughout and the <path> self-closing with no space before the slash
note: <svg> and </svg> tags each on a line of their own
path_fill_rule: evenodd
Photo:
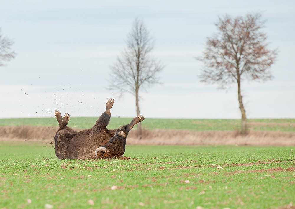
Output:
<svg viewBox="0 0 295 209">
<path fill-rule="evenodd" d="M 111 67 L 109 89 L 121 93 L 129 92 L 135 96 L 136 113 L 140 115 L 139 92 L 155 83 L 159 83 L 157 73 L 163 70 L 160 61 L 150 57 L 154 42 L 143 21 L 135 19 L 131 32 L 127 36 L 127 49 L 122 57 L 117 57 Z M 137 136 L 141 135 L 141 124 L 137 124 Z"/>
</svg>

